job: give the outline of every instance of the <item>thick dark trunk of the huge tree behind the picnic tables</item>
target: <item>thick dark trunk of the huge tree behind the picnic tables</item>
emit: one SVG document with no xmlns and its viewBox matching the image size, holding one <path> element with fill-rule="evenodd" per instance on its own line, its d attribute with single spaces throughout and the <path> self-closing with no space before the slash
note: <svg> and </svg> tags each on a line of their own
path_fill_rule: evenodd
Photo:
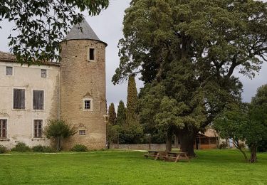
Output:
<svg viewBox="0 0 267 185">
<path fill-rule="evenodd" d="M 179 130 L 178 135 L 181 144 L 180 151 L 187 152 L 187 155 L 189 157 L 196 157 L 196 154 L 194 153 L 194 142 L 196 139 L 196 134 L 187 129 L 182 129 Z"/>
</svg>

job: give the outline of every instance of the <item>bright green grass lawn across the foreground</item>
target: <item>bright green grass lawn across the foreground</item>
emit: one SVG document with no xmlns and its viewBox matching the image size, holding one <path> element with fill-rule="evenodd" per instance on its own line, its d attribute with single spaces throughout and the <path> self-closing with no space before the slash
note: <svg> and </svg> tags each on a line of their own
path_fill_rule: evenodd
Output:
<svg viewBox="0 0 267 185">
<path fill-rule="evenodd" d="M 0 155 L 0 184 L 267 184 L 267 154 L 246 164 L 236 150 L 197 151 L 191 162 L 145 152 Z"/>
</svg>

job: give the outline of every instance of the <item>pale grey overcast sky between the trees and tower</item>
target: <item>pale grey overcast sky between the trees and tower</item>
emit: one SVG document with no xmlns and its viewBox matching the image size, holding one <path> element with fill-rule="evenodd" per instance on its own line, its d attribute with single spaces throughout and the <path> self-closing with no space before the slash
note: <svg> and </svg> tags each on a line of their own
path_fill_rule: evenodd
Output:
<svg viewBox="0 0 267 185">
<path fill-rule="evenodd" d="M 108 43 L 108 47 L 106 48 L 107 100 L 108 105 L 114 102 L 115 107 L 117 107 L 120 100 L 123 100 L 126 104 L 127 97 L 127 82 L 121 85 L 112 85 L 111 78 L 120 63 L 120 58 L 117 56 L 117 43 L 122 38 L 122 20 L 124 11 L 129 4 L 130 0 L 111 0 L 108 9 L 102 11 L 99 16 L 86 16 L 86 20 L 100 40 Z M 0 51 L 8 52 L 7 37 L 10 34 L 13 24 L 2 21 L 0 26 L 2 26 L 0 30 Z M 263 64 L 261 72 L 252 80 L 241 75 L 239 77 L 244 84 L 244 101 L 250 102 L 257 88 L 267 83 L 267 63 Z M 137 88 L 142 88 L 142 82 L 140 80 L 137 80 Z"/>
</svg>

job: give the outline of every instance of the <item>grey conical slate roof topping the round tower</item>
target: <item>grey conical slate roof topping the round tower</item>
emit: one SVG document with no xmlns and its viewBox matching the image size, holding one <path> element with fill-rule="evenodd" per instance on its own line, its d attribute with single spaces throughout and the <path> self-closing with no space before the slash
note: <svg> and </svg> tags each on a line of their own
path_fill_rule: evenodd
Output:
<svg viewBox="0 0 267 185">
<path fill-rule="evenodd" d="M 82 28 L 82 30 L 80 30 Z M 100 41 L 98 36 L 95 34 L 93 29 L 90 27 L 87 21 L 83 19 L 83 21 L 80 24 L 76 24 L 71 28 L 70 32 L 64 38 L 64 41 L 69 41 L 69 40 L 94 40 L 94 41 Z M 101 41 L 103 42 L 103 41 Z M 105 43 L 105 42 L 103 42 Z M 105 45 L 107 45 L 105 43 Z"/>
</svg>

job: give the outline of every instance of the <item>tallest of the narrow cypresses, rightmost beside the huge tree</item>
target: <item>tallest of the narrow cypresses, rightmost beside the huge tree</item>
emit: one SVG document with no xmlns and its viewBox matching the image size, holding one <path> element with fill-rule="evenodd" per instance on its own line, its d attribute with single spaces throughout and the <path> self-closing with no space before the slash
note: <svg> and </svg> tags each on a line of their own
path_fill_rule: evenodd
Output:
<svg viewBox="0 0 267 185">
<path fill-rule="evenodd" d="M 128 81 L 127 88 L 127 108 L 126 108 L 126 124 L 135 125 L 137 122 L 137 88 L 135 76 L 131 75 Z"/>
</svg>

